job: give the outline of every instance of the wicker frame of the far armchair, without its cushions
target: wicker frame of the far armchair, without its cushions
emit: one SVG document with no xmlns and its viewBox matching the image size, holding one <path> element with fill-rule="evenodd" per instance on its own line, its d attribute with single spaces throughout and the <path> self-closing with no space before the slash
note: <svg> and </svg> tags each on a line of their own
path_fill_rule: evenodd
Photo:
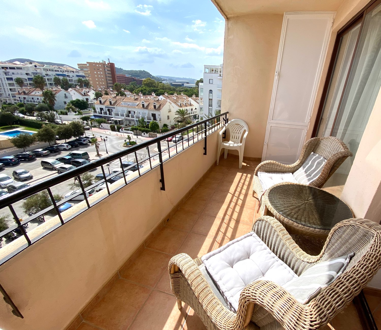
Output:
<svg viewBox="0 0 381 330">
<path fill-rule="evenodd" d="M 304 161 L 306 161 L 308 156 L 311 155 L 311 152 L 317 153 L 327 159 L 327 163 L 323 166 L 319 177 L 310 183 L 311 186 L 317 188 L 321 188 L 331 177 L 331 175 L 335 173 L 336 169 L 343 164 L 344 160 L 353 155 L 345 143 L 336 137 L 314 137 L 309 139 L 306 143 L 304 143 L 300 157 L 296 163 L 285 165 L 276 161 L 266 160 L 257 166 L 254 172 L 253 196 L 254 193 L 256 193 L 258 198 L 260 198 L 264 192 L 261 182 L 257 176 L 258 172 L 294 173 L 303 165 Z M 260 212 L 261 215 L 267 214 L 267 208 L 263 202 L 260 203 Z"/>
</svg>

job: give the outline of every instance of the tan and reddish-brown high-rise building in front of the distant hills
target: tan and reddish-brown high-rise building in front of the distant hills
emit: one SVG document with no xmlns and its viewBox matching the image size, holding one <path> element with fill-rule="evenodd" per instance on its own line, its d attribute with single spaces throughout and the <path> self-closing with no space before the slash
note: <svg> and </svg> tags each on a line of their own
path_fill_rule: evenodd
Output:
<svg viewBox="0 0 381 330">
<path fill-rule="evenodd" d="M 101 62 L 78 63 L 78 68 L 83 70 L 86 78 L 90 81 L 93 88 L 112 88 L 116 81 L 115 64 Z M 115 79 L 113 80 L 113 75 Z"/>
</svg>

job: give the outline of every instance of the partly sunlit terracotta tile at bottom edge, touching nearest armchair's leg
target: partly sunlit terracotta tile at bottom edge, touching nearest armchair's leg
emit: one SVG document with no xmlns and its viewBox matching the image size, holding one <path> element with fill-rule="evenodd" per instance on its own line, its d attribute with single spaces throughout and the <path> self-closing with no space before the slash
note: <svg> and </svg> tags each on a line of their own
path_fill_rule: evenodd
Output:
<svg viewBox="0 0 381 330">
<path fill-rule="evenodd" d="M 129 330 L 181 330 L 186 316 L 174 296 L 153 291 Z"/>
</svg>

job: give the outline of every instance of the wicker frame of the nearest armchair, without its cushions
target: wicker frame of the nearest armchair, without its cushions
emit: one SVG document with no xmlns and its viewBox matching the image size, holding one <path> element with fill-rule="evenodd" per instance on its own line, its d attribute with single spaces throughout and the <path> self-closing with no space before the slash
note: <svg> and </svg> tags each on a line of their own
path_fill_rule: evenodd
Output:
<svg viewBox="0 0 381 330">
<path fill-rule="evenodd" d="M 381 226 L 364 219 L 349 219 L 332 228 L 322 252 L 303 252 L 285 228 L 274 218 L 263 216 L 253 231 L 299 276 L 311 266 L 355 252 L 349 265 L 327 289 L 308 304 L 299 303 L 287 290 L 271 281 L 255 281 L 241 292 L 237 314 L 226 309 L 213 293 L 200 269 L 201 258 L 181 253 L 171 258 L 169 273 L 172 292 L 189 304 L 209 330 L 319 329 L 330 322 L 381 267 Z"/>
</svg>

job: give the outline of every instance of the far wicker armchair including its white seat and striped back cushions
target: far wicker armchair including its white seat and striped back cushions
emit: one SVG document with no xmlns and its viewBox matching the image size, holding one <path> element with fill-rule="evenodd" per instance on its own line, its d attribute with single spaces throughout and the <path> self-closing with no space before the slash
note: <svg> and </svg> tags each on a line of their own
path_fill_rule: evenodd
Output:
<svg viewBox="0 0 381 330">
<path fill-rule="evenodd" d="M 313 158 L 312 155 L 316 156 L 315 159 L 320 158 L 322 160 L 320 166 L 319 164 L 315 167 L 313 164 L 311 165 L 310 158 Z M 294 164 L 285 165 L 272 160 L 260 163 L 254 172 L 253 196 L 254 193 L 257 194 L 261 215 L 267 214 L 267 208 L 261 201 L 261 196 L 271 185 L 281 182 L 294 182 L 320 188 L 348 156 L 352 156 L 351 151 L 343 141 L 336 137 L 314 137 L 304 143 L 300 157 Z M 311 167 L 312 176 L 306 178 L 303 166 L 307 167 L 306 172 L 308 172 L 308 165 Z M 302 175 L 300 172 L 303 172 Z M 261 179 L 261 175 L 267 176 L 267 182 Z"/>
</svg>

